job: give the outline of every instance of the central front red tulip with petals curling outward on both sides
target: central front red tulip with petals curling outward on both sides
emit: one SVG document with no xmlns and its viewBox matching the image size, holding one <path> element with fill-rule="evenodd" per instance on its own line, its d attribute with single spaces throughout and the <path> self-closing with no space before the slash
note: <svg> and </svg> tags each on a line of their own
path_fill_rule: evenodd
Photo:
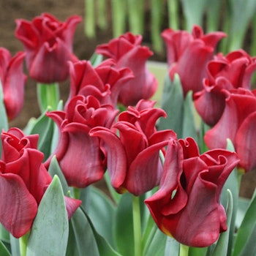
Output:
<svg viewBox="0 0 256 256">
<path fill-rule="evenodd" d="M 155 124 L 165 111 L 153 108 L 154 102 L 140 100 L 136 108 L 128 107 L 118 116 L 113 129 L 119 137 L 105 127 L 91 129 L 92 138 L 100 138 L 107 151 L 108 172 L 114 189 L 119 193 L 142 195 L 159 184 L 162 176 L 162 151 L 170 138 L 176 138 L 171 130 L 157 132 Z"/>
</svg>

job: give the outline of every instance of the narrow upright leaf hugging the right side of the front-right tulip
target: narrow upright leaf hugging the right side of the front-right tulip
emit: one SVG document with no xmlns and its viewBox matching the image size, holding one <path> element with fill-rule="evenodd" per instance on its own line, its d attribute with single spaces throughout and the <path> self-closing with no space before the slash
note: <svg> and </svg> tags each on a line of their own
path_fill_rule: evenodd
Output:
<svg viewBox="0 0 256 256">
<path fill-rule="evenodd" d="M 231 219 L 233 214 L 233 197 L 229 189 L 227 189 L 227 196 L 228 196 L 227 208 L 226 208 L 227 231 L 219 235 L 219 239 L 214 248 L 214 252 L 212 253 L 211 256 L 227 255 L 230 235 L 233 236 L 233 233 L 230 234 L 230 232 L 233 232 L 233 230 L 230 230 L 230 224 L 231 224 Z"/>
</svg>

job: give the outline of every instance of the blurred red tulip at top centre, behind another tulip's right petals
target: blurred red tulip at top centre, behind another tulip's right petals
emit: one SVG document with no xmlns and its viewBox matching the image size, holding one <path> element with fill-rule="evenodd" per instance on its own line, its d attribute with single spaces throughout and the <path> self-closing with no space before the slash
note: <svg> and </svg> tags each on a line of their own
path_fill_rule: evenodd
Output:
<svg viewBox="0 0 256 256">
<path fill-rule="evenodd" d="M 99 45 L 96 53 L 116 61 L 116 68 L 127 67 L 134 78 L 122 86 L 118 101 L 121 104 L 136 105 L 140 99 L 149 99 L 157 90 L 157 80 L 146 67 L 146 61 L 152 56 L 151 50 L 141 46 L 142 37 L 130 32 Z"/>
</svg>

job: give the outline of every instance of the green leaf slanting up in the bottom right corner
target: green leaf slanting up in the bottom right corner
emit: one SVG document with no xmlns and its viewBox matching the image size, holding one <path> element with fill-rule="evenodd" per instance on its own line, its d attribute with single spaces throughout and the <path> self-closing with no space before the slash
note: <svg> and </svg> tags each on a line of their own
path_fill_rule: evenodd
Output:
<svg viewBox="0 0 256 256">
<path fill-rule="evenodd" d="M 243 222 L 238 229 L 236 236 L 236 241 L 233 250 L 233 256 L 238 256 L 243 251 L 244 248 L 248 248 L 250 245 L 246 244 L 249 241 L 252 234 L 255 233 L 256 225 L 256 189 L 252 195 L 252 200 L 247 208 L 246 214 L 244 216 Z M 255 243 L 255 241 L 254 241 Z M 251 254 L 249 254 L 251 255 Z"/>
</svg>

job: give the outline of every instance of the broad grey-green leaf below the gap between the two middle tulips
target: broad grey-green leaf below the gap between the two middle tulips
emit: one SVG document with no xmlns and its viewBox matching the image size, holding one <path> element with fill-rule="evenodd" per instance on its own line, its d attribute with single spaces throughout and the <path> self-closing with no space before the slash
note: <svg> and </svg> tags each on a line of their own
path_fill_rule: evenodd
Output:
<svg viewBox="0 0 256 256">
<path fill-rule="evenodd" d="M 97 232 L 103 236 L 111 246 L 113 242 L 113 222 L 115 208 L 110 198 L 96 187 L 91 187 L 91 197 L 87 214 Z M 100 211 L 99 211 L 100 206 Z M 85 208 L 86 209 L 86 208 Z"/>
</svg>

